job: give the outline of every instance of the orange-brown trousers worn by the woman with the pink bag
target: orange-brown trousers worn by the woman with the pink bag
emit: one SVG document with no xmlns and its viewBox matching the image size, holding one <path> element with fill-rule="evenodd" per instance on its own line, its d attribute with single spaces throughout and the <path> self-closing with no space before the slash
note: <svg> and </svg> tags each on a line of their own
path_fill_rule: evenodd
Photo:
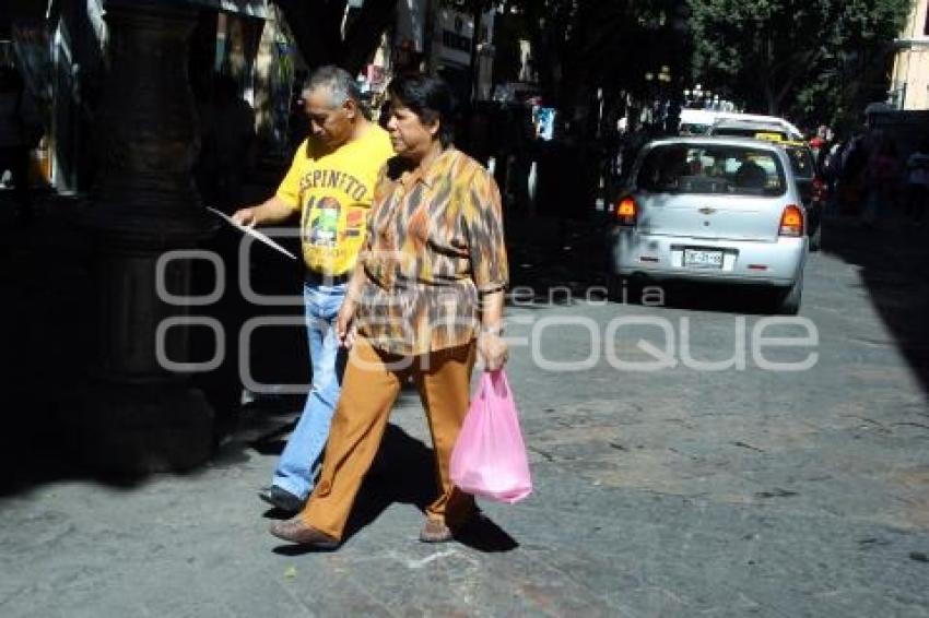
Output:
<svg viewBox="0 0 929 618">
<path fill-rule="evenodd" d="M 342 538 L 352 503 L 380 447 L 390 409 L 410 376 L 420 391 L 436 457 L 439 496 L 426 508 L 426 515 L 451 527 L 469 519 L 474 499 L 451 484 L 448 466 L 468 413 L 474 355 L 473 341 L 425 357 L 403 357 L 378 350 L 358 337 L 345 367 L 322 473 L 301 513 L 304 522 Z"/>
</svg>

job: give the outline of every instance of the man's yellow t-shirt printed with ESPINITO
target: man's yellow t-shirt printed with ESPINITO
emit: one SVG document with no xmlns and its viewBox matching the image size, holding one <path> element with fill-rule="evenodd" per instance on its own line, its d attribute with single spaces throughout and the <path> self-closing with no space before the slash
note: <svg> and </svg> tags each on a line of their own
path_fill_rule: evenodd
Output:
<svg viewBox="0 0 929 618">
<path fill-rule="evenodd" d="M 307 269 L 342 275 L 354 268 L 367 233 L 377 173 L 391 156 L 390 138 L 377 124 L 334 152 L 324 153 L 308 140 L 297 148 L 278 197 L 301 211 Z"/>
</svg>

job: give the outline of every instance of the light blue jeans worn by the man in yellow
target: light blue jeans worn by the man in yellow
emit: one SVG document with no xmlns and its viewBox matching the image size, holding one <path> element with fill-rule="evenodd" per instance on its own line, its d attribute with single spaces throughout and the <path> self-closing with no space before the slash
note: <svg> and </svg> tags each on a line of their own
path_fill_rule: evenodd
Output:
<svg viewBox="0 0 929 618">
<path fill-rule="evenodd" d="M 344 348 L 339 347 L 336 317 L 345 299 L 346 288 L 344 283 L 331 286 L 304 283 L 313 384 L 271 482 L 301 499 L 306 499 L 313 490 L 315 468 L 326 448 L 332 414 L 342 390 L 348 355 Z"/>
</svg>

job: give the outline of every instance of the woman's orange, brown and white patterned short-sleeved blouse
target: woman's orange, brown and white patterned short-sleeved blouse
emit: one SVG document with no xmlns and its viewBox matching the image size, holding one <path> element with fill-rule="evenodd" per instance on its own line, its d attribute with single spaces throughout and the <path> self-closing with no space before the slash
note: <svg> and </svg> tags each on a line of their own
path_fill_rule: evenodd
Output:
<svg viewBox="0 0 929 618">
<path fill-rule="evenodd" d="M 425 173 L 381 169 L 360 259 L 356 320 L 376 348 L 403 356 L 463 345 L 479 299 L 508 283 L 499 190 L 481 164 L 448 148 Z"/>
</svg>

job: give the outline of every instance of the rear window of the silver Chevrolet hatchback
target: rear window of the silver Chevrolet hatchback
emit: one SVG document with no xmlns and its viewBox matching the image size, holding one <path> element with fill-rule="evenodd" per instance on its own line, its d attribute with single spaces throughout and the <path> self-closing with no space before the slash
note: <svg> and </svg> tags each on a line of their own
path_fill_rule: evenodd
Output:
<svg viewBox="0 0 929 618">
<path fill-rule="evenodd" d="M 787 190 L 774 152 L 722 144 L 659 144 L 645 154 L 636 185 L 668 193 L 774 197 Z"/>
</svg>

